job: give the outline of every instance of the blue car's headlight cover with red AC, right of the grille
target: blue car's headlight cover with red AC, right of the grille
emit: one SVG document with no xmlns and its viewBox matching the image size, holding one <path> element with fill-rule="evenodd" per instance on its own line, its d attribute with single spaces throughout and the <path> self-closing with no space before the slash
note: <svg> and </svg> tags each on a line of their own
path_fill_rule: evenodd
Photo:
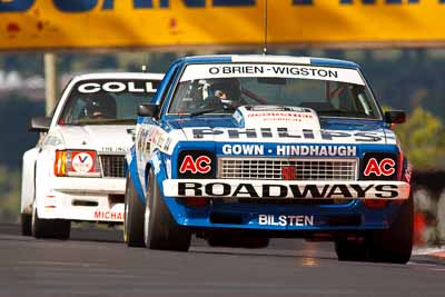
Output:
<svg viewBox="0 0 445 297">
<path fill-rule="evenodd" d="M 398 158 L 389 152 L 366 152 L 362 159 L 362 180 L 397 180 Z"/>
</svg>

